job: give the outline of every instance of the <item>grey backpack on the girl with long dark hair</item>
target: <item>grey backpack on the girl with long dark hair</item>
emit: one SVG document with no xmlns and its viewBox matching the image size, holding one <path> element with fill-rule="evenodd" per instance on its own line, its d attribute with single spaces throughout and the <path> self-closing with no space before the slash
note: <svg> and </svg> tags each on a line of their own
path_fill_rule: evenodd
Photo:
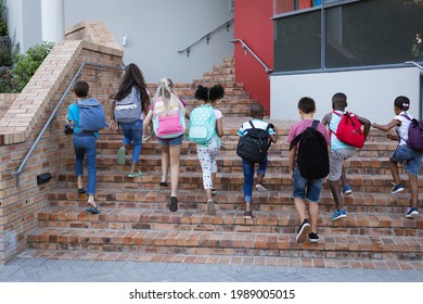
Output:
<svg viewBox="0 0 423 304">
<path fill-rule="evenodd" d="M 118 123 L 131 124 L 140 119 L 142 105 L 140 94 L 136 87 L 123 100 L 115 101 L 115 119 Z"/>
</svg>

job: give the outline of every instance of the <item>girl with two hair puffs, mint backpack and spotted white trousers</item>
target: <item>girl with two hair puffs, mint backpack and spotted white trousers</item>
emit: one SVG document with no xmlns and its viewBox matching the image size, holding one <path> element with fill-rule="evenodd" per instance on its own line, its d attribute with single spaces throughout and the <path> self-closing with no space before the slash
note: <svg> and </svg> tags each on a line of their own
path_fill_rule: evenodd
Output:
<svg viewBox="0 0 423 304">
<path fill-rule="evenodd" d="M 225 89 L 220 85 L 211 88 L 198 86 L 195 98 L 204 104 L 195 107 L 190 114 L 189 139 L 196 143 L 196 153 L 203 172 L 203 186 L 207 197 L 207 212 L 216 214 L 216 194 L 214 181 L 217 173 L 216 157 L 220 151 L 220 137 L 223 136 L 223 115 L 215 109 L 216 102 L 222 99 Z"/>
</svg>

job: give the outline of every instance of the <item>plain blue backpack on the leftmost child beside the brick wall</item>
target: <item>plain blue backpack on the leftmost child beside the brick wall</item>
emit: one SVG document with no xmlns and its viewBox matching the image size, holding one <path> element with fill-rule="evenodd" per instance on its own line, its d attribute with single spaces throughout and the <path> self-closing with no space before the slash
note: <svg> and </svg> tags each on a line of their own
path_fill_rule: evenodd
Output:
<svg viewBox="0 0 423 304">
<path fill-rule="evenodd" d="M 104 109 L 97 99 L 79 100 L 77 105 L 79 109 L 79 130 L 99 131 L 107 127 Z"/>
</svg>

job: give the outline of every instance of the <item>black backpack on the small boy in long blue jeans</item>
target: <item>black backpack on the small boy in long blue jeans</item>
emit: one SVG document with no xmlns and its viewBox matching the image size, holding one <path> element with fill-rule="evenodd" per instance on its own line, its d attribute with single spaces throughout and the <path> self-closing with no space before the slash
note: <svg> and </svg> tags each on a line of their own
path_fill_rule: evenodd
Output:
<svg viewBox="0 0 423 304">
<path fill-rule="evenodd" d="M 270 147 L 270 124 L 264 130 L 256 128 L 252 121 L 248 123 L 252 128 L 244 136 L 240 137 L 236 145 L 236 154 L 245 161 L 261 163 L 265 161 Z"/>
</svg>

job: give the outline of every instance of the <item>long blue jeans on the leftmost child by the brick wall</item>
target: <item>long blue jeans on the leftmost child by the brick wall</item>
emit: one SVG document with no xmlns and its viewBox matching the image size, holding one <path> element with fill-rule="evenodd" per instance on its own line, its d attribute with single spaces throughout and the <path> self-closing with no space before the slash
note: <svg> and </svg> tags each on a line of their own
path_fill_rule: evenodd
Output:
<svg viewBox="0 0 423 304">
<path fill-rule="evenodd" d="M 74 136 L 75 150 L 75 170 L 76 177 L 84 176 L 84 157 L 87 156 L 88 187 L 87 194 L 95 194 L 97 168 L 95 168 L 95 137 L 91 136 Z"/>
</svg>

